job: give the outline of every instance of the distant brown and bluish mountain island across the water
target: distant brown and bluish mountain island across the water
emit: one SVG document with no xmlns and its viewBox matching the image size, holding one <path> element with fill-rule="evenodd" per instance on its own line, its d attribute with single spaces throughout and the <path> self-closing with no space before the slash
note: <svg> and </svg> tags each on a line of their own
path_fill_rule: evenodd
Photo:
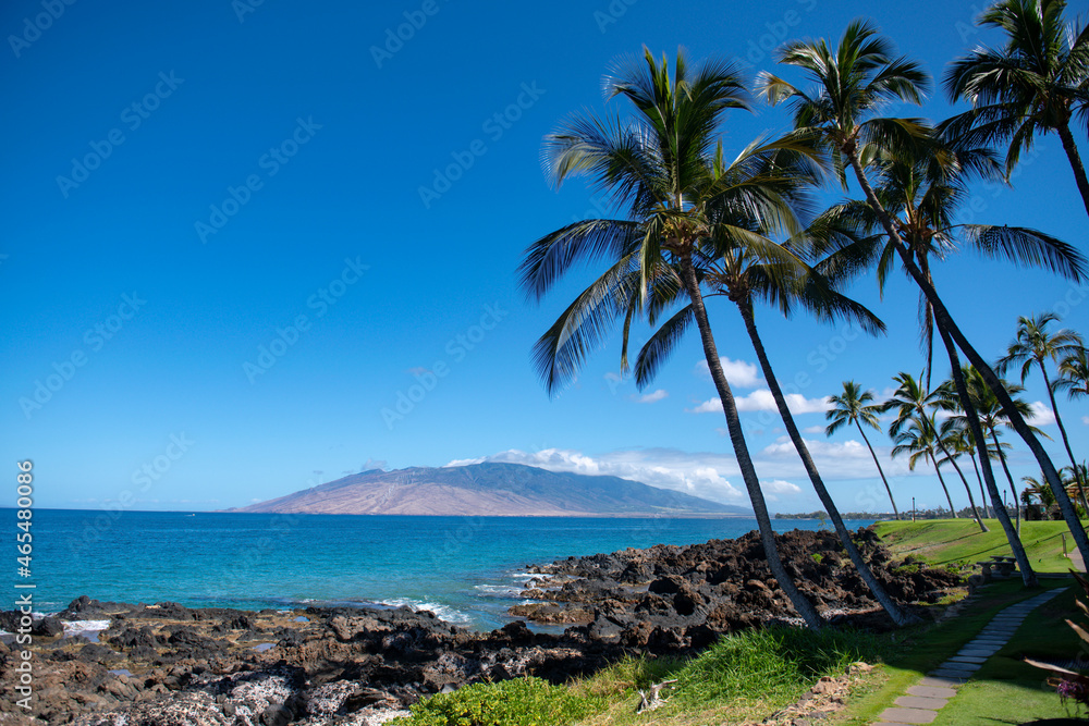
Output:
<svg viewBox="0 0 1089 726">
<path fill-rule="evenodd" d="M 488 517 L 751 517 L 719 504 L 619 477 L 521 464 L 372 469 L 228 512 Z"/>
</svg>

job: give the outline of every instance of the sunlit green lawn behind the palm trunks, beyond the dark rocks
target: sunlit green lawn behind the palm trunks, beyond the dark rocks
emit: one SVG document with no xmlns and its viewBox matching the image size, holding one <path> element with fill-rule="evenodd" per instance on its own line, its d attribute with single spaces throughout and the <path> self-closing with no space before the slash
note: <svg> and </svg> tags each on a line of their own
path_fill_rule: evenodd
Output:
<svg viewBox="0 0 1089 726">
<path fill-rule="evenodd" d="M 933 565 L 977 562 L 994 555 L 1012 555 L 1006 534 L 998 519 L 984 519 L 991 530 L 980 532 L 979 525 L 965 519 L 922 521 L 881 521 L 873 530 L 897 557 L 911 555 Z M 1063 556 L 1063 533 L 1067 551 L 1074 549 L 1065 521 L 1023 521 L 1021 543 L 1038 573 L 1066 573 L 1070 561 Z"/>
</svg>

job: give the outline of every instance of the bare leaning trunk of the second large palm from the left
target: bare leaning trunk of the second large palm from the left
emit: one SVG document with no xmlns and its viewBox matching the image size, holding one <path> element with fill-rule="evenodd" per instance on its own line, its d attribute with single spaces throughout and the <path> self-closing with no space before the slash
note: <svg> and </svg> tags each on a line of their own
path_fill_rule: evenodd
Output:
<svg viewBox="0 0 1089 726">
<path fill-rule="evenodd" d="M 920 622 L 919 618 L 909 616 L 896 605 L 892 596 L 889 595 L 878 579 L 873 577 L 873 571 L 862 558 L 862 553 L 858 551 L 858 546 L 851 539 L 851 532 L 847 531 L 846 526 L 843 524 L 843 517 L 840 516 L 840 510 L 836 508 L 835 502 L 832 500 L 831 494 L 828 493 L 824 481 L 817 470 L 817 465 L 813 464 L 812 457 L 809 456 L 809 448 L 802 438 L 802 432 L 798 431 L 798 427 L 794 422 L 794 416 L 791 415 L 791 409 L 786 405 L 786 397 L 783 396 L 783 390 L 779 385 L 779 379 L 775 378 L 775 371 L 771 368 L 771 361 L 768 359 L 768 353 L 763 348 L 763 342 L 760 340 L 759 333 L 757 333 L 756 320 L 752 317 L 752 306 L 747 302 L 743 302 L 737 303 L 737 308 L 745 320 L 745 330 L 748 331 L 749 340 L 752 341 L 756 357 L 760 360 L 760 369 L 763 371 L 763 378 L 768 381 L 768 387 L 771 390 L 771 395 L 779 407 L 779 415 L 783 419 L 786 432 L 790 434 L 791 441 L 794 442 L 794 448 L 797 450 L 798 456 L 802 457 L 802 465 L 809 475 L 809 480 L 817 491 L 820 503 L 824 505 L 824 510 L 828 512 L 829 518 L 832 519 L 832 526 L 835 528 L 835 533 L 839 536 L 840 542 L 843 543 L 844 550 L 847 551 L 847 556 L 851 557 L 851 562 L 855 565 L 855 569 L 858 570 L 862 581 L 866 582 L 866 587 L 873 593 L 873 598 L 881 604 L 881 607 L 889 613 L 889 617 L 893 619 L 893 623 L 896 625 L 906 625 L 908 623 Z"/>
</svg>

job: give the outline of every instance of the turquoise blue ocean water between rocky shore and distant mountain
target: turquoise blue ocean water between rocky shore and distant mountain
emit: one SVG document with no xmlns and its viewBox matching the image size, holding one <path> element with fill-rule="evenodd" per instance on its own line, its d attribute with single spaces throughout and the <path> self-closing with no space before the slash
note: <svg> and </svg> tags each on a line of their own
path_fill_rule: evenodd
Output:
<svg viewBox="0 0 1089 726">
<path fill-rule="evenodd" d="M 14 542 L 15 512 L 0 509 L 0 527 L 3 521 Z M 816 529 L 818 522 L 774 526 Z M 84 594 L 247 610 L 387 603 L 490 629 L 506 623 L 504 612 L 519 602 L 527 565 L 737 537 L 756 521 L 36 509 L 32 528 L 33 577 L 15 575 L 12 552 L 12 580 L 37 586 L 42 612 Z"/>
</svg>

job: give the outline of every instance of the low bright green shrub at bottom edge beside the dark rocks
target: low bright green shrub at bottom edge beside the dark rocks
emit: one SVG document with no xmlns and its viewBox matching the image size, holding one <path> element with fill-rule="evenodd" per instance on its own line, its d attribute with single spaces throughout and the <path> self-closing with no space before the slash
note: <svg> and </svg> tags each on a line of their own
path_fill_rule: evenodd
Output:
<svg viewBox="0 0 1089 726">
<path fill-rule="evenodd" d="M 540 678 L 473 684 L 412 706 L 391 726 L 563 726 L 605 706 L 604 699 L 575 696 Z"/>
</svg>

